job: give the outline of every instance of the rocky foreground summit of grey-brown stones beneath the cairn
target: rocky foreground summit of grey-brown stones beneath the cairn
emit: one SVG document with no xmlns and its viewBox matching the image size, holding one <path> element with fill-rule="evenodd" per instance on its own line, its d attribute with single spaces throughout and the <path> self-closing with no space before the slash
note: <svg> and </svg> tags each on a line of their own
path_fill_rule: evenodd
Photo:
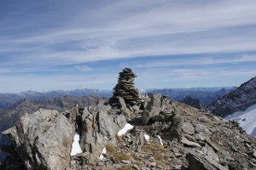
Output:
<svg viewBox="0 0 256 170">
<path fill-rule="evenodd" d="M 62 114 L 39 110 L 22 116 L 5 133 L 27 169 L 256 168 L 256 139 L 236 122 L 166 96 L 140 99 L 137 107 L 127 107 L 120 99 L 119 107 L 100 101 L 95 106 L 76 105 Z M 130 130 L 125 128 L 125 133 L 123 127 Z M 83 152 L 70 156 L 75 132 Z"/>
</svg>

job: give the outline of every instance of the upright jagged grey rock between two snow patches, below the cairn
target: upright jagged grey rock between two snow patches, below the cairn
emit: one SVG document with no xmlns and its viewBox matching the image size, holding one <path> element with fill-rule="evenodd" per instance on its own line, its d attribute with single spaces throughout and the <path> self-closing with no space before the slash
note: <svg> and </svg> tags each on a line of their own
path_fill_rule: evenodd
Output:
<svg viewBox="0 0 256 170">
<path fill-rule="evenodd" d="M 108 105 L 88 106 L 82 115 L 80 145 L 90 162 L 98 161 L 106 144 L 116 144 L 115 135 L 125 126 L 124 115 L 110 113 Z"/>
</svg>

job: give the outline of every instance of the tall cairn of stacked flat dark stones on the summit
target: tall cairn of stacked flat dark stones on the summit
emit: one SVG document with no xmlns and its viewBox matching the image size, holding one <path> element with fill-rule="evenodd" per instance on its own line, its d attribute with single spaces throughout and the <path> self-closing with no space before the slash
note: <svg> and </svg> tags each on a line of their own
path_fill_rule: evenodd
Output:
<svg viewBox="0 0 256 170">
<path fill-rule="evenodd" d="M 138 105 L 140 103 L 139 92 L 134 87 L 134 79 L 137 77 L 130 68 L 119 72 L 119 82 L 113 88 L 113 96 L 109 99 L 110 105 L 119 104 L 119 98 L 125 99 L 126 105 Z"/>
</svg>

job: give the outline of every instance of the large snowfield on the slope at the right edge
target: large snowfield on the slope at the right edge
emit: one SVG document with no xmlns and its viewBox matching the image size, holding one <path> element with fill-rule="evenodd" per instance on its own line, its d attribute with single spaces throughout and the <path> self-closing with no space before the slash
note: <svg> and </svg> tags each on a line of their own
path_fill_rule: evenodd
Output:
<svg viewBox="0 0 256 170">
<path fill-rule="evenodd" d="M 256 136 L 256 105 L 248 107 L 246 111 L 236 111 L 225 119 L 238 122 L 248 134 Z"/>
</svg>

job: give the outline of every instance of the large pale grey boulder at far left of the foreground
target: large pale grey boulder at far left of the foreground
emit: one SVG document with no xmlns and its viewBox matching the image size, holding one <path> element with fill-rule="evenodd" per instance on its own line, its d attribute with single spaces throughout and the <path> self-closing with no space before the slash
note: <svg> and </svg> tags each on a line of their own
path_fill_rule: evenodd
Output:
<svg viewBox="0 0 256 170">
<path fill-rule="evenodd" d="M 58 111 L 39 110 L 21 116 L 6 130 L 27 169 L 65 169 L 69 166 L 74 129 Z"/>
</svg>

